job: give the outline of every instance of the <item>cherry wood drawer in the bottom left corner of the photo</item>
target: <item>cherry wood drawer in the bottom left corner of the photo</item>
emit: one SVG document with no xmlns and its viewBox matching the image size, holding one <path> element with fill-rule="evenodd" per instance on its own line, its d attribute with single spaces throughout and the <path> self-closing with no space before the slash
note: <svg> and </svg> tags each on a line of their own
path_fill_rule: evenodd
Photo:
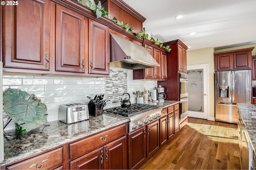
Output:
<svg viewBox="0 0 256 170">
<path fill-rule="evenodd" d="M 54 169 L 63 164 L 63 148 L 55 149 L 45 154 L 25 160 L 23 162 L 6 166 L 6 169 Z"/>
</svg>

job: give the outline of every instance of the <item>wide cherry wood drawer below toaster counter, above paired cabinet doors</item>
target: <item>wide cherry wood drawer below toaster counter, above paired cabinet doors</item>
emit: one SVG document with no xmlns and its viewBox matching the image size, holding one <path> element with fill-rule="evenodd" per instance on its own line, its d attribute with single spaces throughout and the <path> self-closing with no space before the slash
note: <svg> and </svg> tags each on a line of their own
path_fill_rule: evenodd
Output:
<svg viewBox="0 0 256 170">
<path fill-rule="evenodd" d="M 92 137 L 77 141 L 69 145 L 70 159 L 81 156 L 92 149 L 103 146 L 114 139 L 126 135 L 126 124 L 104 131 Z"/>
</svg>

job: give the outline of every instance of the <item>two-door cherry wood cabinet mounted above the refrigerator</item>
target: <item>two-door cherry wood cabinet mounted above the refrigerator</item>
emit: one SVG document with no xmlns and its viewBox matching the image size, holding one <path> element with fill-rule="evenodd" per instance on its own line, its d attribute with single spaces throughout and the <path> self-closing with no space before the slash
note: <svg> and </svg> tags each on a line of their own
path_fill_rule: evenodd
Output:
<svg viewBox="0 0 256 170">
<path fill-rule="evenodd" d="M 252 48 L 214 53 L 214 71 L 252 68 Z"/>
</svg>

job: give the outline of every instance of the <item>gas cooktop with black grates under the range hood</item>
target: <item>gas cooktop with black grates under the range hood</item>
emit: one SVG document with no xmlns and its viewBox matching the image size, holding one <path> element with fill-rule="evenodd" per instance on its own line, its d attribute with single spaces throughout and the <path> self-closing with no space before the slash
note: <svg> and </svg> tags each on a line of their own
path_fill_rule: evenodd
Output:
<svg viewBox="0 0 256 170">
<path fill-rule="evenodd" d="M 136 115 L 138 113 L 142 113 L 144 111 L 149 111 L 151 109 L 156 109 L 158 106 L 149 105 L 149 104 L 131 104 L 130 107 L 112 107 L 109 109 L 104 109 L 104 113 L 120 115 L 124 117 L 130 117 L 132 115 Z"/>
</svg>

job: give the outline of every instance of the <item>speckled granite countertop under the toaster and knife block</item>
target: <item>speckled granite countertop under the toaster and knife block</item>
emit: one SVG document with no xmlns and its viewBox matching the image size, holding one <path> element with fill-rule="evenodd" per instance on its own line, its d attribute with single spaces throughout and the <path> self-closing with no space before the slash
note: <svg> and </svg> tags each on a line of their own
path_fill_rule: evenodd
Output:
<svg viewBox="0 0 256 170">
<path fill-rule="evenodd" d="M 4 161 L 0 165 L 9 164 L 128 121 L 124 117 L 103 114 L 98 117 L 90 116 L 89 120 L 71 124 L 61 121 L 45 123 L 50 126 L 42 125 L 27 132 L 20 139 L 16 135 L 9 137 L 9 140 L 4 139 Z"/>
</svg>

